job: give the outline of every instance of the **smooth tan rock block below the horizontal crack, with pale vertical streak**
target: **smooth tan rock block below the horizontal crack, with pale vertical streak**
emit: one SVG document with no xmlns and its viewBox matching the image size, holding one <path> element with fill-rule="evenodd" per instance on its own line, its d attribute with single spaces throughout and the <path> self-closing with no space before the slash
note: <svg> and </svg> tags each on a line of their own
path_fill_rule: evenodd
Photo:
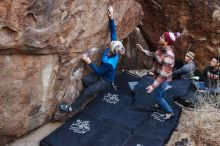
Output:
<svg viewBox="0 0 220 146">
<path fill-rule="evenodd" d="M 3 55 L 0 58 L 1 143 L 48 120 L 57 102 L 53 92 L 58 56 Z"/>
</svg>

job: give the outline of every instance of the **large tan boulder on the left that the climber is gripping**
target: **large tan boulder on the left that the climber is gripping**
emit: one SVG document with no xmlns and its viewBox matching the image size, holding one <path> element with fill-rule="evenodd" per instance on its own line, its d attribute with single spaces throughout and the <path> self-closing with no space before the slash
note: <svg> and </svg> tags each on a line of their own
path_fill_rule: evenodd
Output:
<svg viewBox="0 0 220 146">
<path fill-rule="evenodd" d="M 0 145 L 46 123 L 60 100 L 72 101 L 93 59 L 109 44 L 107 8 L 118 38 L 140 22 L 134 0 L 6 0 L 0 2 Z"/>
</svg>

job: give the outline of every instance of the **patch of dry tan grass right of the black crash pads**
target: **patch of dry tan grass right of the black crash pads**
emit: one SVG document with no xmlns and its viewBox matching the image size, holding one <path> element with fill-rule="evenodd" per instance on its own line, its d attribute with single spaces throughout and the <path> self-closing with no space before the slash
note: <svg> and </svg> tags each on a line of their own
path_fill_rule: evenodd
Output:
<svg viewBox="0 0 220 146">
<path fill-rule="evenodd" d="M 195 94 L 198 99 L 196 108 L 183 109 L 178 131 L 167 145 L 175 145 L 185 133 L 190 139 L 188 145 L 220 146 L 220 95 Z"/>
</svg>

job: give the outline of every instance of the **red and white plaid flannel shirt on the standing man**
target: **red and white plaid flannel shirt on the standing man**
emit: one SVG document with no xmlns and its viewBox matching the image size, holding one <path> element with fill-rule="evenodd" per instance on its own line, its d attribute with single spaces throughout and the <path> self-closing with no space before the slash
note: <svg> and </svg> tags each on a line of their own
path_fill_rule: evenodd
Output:
<svg viewBox="0 0 220 146">
<path fill-rule="evenodd" d="M 145 50 L 145 54 L 155 58 L 153 72 L 154 83 L 152 87 L 157 88 L 165 80 L 172 80 L 172 70 L 174 67 L 174 53 L 171 47 L 166 49 L 158 49 L 156 52 L 149 52 Z"/>
</svg>

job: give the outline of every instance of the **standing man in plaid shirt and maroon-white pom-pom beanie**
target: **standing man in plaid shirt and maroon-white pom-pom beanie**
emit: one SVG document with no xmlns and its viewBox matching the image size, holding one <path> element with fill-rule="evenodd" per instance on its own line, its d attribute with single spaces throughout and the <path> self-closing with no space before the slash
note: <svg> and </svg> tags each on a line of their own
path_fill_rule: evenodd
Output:
<svg viewBox="0 0 220 146">
<path fill-rule="evenodd" d="M 149 52 L 137 44 L 137 47 L 148 56 L 155 58 L 153 72 L 154 83 L 146 88 L 147 93 L 154 91 L 154 98 L 159 106 L 166 112 L 165 119 L 174 116 L 170 105 L 166 102 L 164 93 L 168 86 L 168 81 L 172 80 L 172 70 L 174 67 L 174 53 L 170 45 L 180 36 L 180 33 L 165 32 L 159 39 L 160 47 L 156 52 Z"/>
</svg>

